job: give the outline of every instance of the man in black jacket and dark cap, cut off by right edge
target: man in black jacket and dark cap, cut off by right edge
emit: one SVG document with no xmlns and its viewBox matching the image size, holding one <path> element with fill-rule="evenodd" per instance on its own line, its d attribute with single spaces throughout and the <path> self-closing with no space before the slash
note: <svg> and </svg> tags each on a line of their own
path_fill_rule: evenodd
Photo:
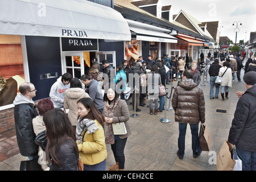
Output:
<svg viewBox="0 0 256 182">
<path fill-rule="evenodd" d="M 237 102 L 228 142 L 236 145 L 242 170 L 256 170 L 256 72 L 243 76 L 246 92 Z"/>
</svg>

